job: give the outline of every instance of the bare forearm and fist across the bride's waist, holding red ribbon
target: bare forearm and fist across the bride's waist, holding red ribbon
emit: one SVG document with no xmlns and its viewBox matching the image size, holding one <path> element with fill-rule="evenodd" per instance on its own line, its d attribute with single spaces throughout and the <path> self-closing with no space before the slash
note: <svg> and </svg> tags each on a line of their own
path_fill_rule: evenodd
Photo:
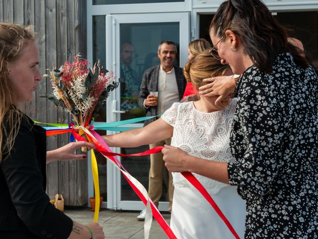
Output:
<svg viewBox="0 0 318 239">
<path fill-rule="evenodd" d="M 161 152 L 163 153 L 165 166 L 170 172 L 193 172 L 222 183 L 230 184 L 227 162 L 215 162 L 197 158 L 179 148 L 169 145 L 164 145 Z"/>
</svg>

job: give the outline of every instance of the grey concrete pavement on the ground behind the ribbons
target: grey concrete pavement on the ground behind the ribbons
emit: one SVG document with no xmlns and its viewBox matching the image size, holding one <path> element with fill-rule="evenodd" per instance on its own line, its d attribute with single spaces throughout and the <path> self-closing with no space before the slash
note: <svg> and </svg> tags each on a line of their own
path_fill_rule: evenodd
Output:
<svg viewBox="0 0 318 239">
<path fill-rule="evenodd" d="M 65 208 L 64 213 L 81 224 L 93 222 L 94 212 L 89 208 Z M 140 212 L 113 211 L 102 209 L 99 212 L 98 223 L 103 227 L 106 239 L 144 239 L 144 222 L 137 221 Z M 164 220 L 170 225 L 170 214 L 162 213 Z M 167 236 L 153 219 L 150 239 L 167 239 Z"/>
</svg>

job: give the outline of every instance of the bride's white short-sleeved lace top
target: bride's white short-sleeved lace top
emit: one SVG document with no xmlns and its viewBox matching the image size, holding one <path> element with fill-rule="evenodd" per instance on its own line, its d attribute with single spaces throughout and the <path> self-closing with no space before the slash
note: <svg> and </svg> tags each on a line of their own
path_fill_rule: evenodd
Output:
<svg viewBox="0 0 318 239">
<path fill-rule="evenodd" d="M 230 148 L 230 130 L 237 99 L 230 105 L 213 113 L 198 111 L 193 102 L 174 103 L 161 116 L 174 127 L 171 145 L 198 158 L 232 162 L 234 158 Z M 229 186 L 207 177 L 193 173 L 210 194 L 217 194 L 221 188 Z M 173 185 L 189 187 L 190 183 L 180 173 L 172 173 Z"/>
</svg>

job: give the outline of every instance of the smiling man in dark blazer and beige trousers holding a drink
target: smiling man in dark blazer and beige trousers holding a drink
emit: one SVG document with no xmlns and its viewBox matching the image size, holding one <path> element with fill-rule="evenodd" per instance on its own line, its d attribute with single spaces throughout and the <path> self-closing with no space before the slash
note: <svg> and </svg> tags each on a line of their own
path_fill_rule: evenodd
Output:
<svg viewBox="0 0 318 239">
<path fill-rule="evenodd" d="M 147 69 L 142 79 L 139 106 L 146 110 L 146 116 L 156 116 L 169 109 L 174 102 L 179 102 L 183 96 L 186 81 L 182 74 L 182 68 L 174 66 L 176 47 L 172 41 L 162 41 L 158 47 L 158 57 L 160 64 Z M 150 92 L 158 92 L 158 100 Z M 144 126 L 155 121 L 156 118 L 145 121 Z M 158 143 L 150 144 L 150 148 L 170 145 L 171 138 L 167 138 Z M 149 188 L 148 194 L 158 208 L 159 199 L 162 194 L 162 169 L 164 161 L 162 153 L 150 156 Z M 173 185 L 172 175 L 169 172 L 169 183 L 167 188 L 169 194 L 169 212 L 172 207 Z M 137 217 L 139 221 L 144 221 L 146 209 Z"/>
</svg>

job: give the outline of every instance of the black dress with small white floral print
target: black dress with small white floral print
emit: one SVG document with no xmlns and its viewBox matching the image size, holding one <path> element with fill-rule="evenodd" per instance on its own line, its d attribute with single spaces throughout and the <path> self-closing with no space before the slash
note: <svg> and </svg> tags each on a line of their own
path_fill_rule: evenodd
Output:
<svg viewBox="0 0 318 239">
<path fill-rule="evenodd" d="M 239 82 L 232 185 L 246 200 L 246 239 L 318 238 L 318 79 L 280 54 L 271 74 Z"/>
</svg>

